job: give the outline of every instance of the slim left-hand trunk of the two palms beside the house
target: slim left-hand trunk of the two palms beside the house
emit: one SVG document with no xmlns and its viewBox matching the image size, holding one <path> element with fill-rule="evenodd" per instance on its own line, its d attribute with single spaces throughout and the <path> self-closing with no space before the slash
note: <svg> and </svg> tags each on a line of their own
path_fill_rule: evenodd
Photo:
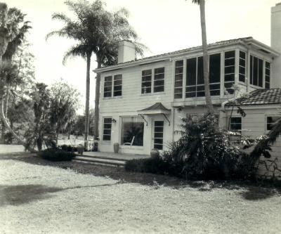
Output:
<svg viewBox="0 0 281 234">
<path fill-rule="evenodd" d="M 84 148 L 88 148 L 88 136 L 89 136 L 89 117 L 90 117 L 90 116 L 89 116 L 89 110 L 90 110 L 90 69 L 91 69 L 91 53 L 87 53 Z"/>
</svg>

